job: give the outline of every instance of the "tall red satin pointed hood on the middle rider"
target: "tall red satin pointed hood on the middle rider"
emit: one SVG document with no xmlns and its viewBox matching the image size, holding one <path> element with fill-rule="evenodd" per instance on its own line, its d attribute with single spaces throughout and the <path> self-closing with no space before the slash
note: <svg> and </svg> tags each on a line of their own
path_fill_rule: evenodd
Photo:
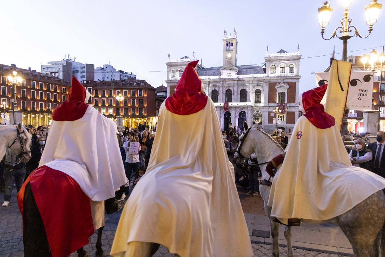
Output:
<svg viewBox="0 0 385 257">
<path fill-rule="evenodd" d="M 172 113 L 189 115 L 201 111 L 207 104 L 208 97 L 201 92 L 202 81 L 195 70 L 199 60 L 187 64 L 175 93 L 166 99 L 166 108 Z"/>
</svg>

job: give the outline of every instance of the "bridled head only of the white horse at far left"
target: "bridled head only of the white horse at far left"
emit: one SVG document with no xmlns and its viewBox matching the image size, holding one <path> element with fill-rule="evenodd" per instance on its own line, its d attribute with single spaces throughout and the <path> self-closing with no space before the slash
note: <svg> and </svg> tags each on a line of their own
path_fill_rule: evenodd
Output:
<svg viewBox="0 0 385 257">
<path fill-rule="evenodd" d="M 27 129 L 19 123 L 16 126 L 15 139 L 10 149 L 20 158 L 20 161 L 28 162 L 31 159 L 31 136 Z"/>
</svg>

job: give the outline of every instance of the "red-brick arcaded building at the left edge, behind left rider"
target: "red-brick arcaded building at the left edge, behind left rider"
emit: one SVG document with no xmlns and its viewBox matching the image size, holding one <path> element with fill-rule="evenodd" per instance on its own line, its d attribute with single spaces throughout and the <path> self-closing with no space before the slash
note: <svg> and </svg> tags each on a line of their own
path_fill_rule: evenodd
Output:
<svg viewBox="0 0 385 257">
<path fill-rule="evenodd" d="M 13 87 L 9 85 L 8 76 L 12 71 L 17 71 L 17 76 L 23 79 L 21 85 L 16 87 L 17 109 L 23 111 L 23 123 L 33 126 L 49 124 L 52 111 L 68 98 L 69 82 L 30 68 L 18 68 L 15 64 L 0 64 L 1 102 L 6 102 L 9 109 L 12 108 Z"/>
</svg>

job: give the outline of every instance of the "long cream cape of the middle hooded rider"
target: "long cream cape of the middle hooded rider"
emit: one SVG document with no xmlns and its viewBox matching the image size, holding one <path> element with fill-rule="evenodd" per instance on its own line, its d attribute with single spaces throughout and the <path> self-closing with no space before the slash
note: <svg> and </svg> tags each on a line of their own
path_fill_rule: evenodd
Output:
<svg viewBox="0 0 385 257">
<path fill-rule="evenodd" d="M 190 115 L 162 104 L 149 166 L 124 207 L 112 256 L 124 256 L 132 241 L 182 257 L 253 256 L 220 131 L 210 98 Z"/>
</svg>

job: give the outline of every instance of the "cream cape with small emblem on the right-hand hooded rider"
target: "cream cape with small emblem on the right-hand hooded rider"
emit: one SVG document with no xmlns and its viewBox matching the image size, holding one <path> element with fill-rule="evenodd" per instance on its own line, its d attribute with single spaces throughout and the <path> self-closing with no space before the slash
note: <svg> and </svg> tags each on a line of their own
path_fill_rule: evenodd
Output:
<svg viewBox="0 0 385 257">
<path fill-rule="evenodd" d="M 319 129 L 301 116 L 273 180 L 268 206 L 271 216 L 284 224 L 288 218 L 328 220 L 383 188 L 384 178 L 352 166 L 336 125 Z"/>
</svg>

